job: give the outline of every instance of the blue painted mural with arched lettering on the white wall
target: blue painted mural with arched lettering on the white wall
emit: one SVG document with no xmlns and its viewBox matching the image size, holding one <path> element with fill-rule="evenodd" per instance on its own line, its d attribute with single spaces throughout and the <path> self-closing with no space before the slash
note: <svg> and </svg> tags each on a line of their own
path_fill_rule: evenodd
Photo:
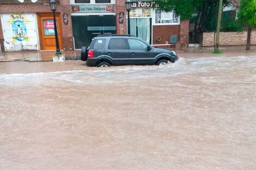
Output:
<svg viewBox="0 0 256 170">
<path fill-rule="evenodd" d="M 29 41 L 26 27 L 26 24 L 28 24 L 29 21 L 25 16 L 22 14 L 12 14 L 10 15 L 8 23 L 11 24 L 11 27 L 13 28 L 13 42 Z"/>
</svg>

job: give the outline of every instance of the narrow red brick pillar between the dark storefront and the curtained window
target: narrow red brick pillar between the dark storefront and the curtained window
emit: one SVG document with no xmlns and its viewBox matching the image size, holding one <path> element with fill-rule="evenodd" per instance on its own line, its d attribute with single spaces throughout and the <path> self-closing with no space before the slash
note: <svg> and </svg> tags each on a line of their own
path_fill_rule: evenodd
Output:
<svg viewBox="0 0 256 170">
<path fill-rule="evenodd" d="M 117 34 L 126 34 L 126 8 L 125 0 L 115 0 L 117 15 L 115 16 L 117 22 Z M 124 23 L 119 24 L 119 12 L 124 12 Z"/>
</svg>

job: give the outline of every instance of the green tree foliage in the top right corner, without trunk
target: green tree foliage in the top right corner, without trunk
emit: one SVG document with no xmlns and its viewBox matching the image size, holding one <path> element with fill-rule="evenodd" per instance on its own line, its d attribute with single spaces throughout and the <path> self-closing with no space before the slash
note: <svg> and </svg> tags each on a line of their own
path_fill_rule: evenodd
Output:
<svg viewBox="0 0 256 170">
<path fill-rule="evenodd" d="M 256 0 L 241 0 L 238 17 L 249 26 L 256 26 Z"/>
</svg>

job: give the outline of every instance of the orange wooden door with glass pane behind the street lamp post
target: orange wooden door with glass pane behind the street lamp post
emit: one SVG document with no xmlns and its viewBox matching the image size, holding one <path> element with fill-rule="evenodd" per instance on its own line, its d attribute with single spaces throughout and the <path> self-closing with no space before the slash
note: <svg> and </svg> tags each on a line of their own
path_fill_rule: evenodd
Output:
<svg viewBox="0 0 256 170">
<path fill-rule="evenodd" d="M 56 14 L 59 48 L 62 47 L 62 25 L 60 17 Z M 53 15 L 52 14 L 38 14 L 38 28 L 40 36 L 40 47 L 43 50 L 56 49 L 56 40 L 54 34 Z"/>
</svg>

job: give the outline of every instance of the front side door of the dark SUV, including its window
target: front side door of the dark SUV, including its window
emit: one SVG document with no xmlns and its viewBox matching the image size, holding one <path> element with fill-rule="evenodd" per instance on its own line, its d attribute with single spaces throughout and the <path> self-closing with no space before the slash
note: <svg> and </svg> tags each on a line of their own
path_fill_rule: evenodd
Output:
<svg viewBox="0 0 256 170">
<path fill-rule="evenodd" d="M 154 53 L 147 51 L 148 45 L 138 39 L 127 39 L 131 64 L 154 64 Z"/>
</svg>

